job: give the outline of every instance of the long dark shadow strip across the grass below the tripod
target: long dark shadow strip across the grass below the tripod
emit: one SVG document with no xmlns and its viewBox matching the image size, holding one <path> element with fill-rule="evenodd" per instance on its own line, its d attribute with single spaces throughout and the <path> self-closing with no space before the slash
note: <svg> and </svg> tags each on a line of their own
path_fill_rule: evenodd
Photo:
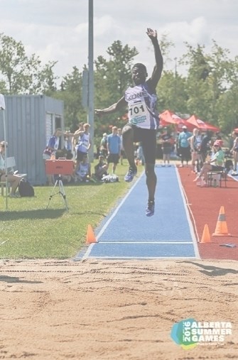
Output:
<svg viewBox="0 0 238 360">
<path fill-rule="evenodd" d="M 0 212 L 2 221 L 11 221 L 17 219 L 57 219 L 62 217 L 65 209 L 37 209 L 23 210 L 19 212 Z"/>
</svg>

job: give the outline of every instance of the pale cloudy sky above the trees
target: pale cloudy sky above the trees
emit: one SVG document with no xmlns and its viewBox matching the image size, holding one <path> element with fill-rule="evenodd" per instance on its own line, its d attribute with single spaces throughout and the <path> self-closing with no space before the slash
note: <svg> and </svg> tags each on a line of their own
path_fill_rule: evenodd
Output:
<svg viewBox="0 0 238 360">
<path fill-rule="evenodd" d="M 158 40 L 166 34 L 174 46 L 167 68 L 186 53 L 185 42 L 205 45 L 212 39 L 227 48 L 229 58 L 238 55 L 237 0 L 94 0 L 94 59 L 107 58 L 115 40 L 136 47 L 135 62 L 143 62 L 148 74 L 154 58 L 148 27 Z M 28 56 L 36 54 L 43 64 L 58 61 L 55 75 L 62 80 L 88 58 L 88 0 L 0 0 L 0 33 L 21 41 Z M 183 72 L 176 62 L 177 71 Z"/>
</svg>

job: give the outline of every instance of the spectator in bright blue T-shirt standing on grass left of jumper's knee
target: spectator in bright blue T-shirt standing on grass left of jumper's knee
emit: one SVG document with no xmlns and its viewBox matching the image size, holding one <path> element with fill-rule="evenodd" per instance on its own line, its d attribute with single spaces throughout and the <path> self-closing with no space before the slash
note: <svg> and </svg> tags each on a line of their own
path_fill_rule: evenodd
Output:
<svg viewBox="0 0 238 360">
<path fill-rule="evenodd" d="M 112 173 L 114 174 L 121 155 L 121 139 L 117 135 L 117 126 L 112 126 L 112 133 L 107 136 L 107 153 L 107 163 L 113 163 Z"/>
</svg>

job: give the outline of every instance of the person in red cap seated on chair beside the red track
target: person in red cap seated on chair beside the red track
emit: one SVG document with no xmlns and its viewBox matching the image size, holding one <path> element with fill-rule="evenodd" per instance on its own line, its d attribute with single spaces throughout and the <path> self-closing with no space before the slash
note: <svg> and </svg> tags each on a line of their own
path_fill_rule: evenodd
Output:
<svg viewBox="0 0 238 360">
<path fill-rule="evenodd" d="M 193 181 L 198 181 L 202 176 L 204 177 L 205 185 L 207 186 L 208 173 L 210 171 L 223 171 L 225 169 L 224 160 L 225 154 L 222 151 L 221 143 L 219 140 L 216 140 L 213 144 L 213 153 L 210 158 L 210 161 L 206 161 L 202 166 L 200 174 Z"/>
</svg>

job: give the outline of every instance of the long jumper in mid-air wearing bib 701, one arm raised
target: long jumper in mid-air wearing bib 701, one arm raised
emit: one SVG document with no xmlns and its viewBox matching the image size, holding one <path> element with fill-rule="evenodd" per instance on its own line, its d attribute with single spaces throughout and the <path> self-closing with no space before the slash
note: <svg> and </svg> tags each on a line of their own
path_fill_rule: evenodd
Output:
<svg viewBox="0 0 238 360">
<path fill-rule="evenodd" d="M 114 111 L 123 109 L 126 105 L 128 106 L 129 121 L 122 129 L 124 151 L 129 161 L 129 170 L 124 179 L 126 182 L 131 182 L 137 173 L 134 160 L 134 142 L 141 142 L 148 188 L 146 216 L 151 217 L 155 209 L 154 195 L 157 180 L 154 171 L 156 163 L 156 131 L 158 128 L 156 86 L 163 70 L 163 57 L 158 45 L 157 32 L 147 28 L 146 33 L 152 41 L 156 58 L 156 65 L 153 68 L 151 77 L 146 80 L 148 74 L 144 64 L 135 64 L 131 70 L 134 87 L 126 89 L 124 97 L 121 97 L 117 103 L 112 104 L 107 109 L 95 110 L 95 113 L 99 115 L 111 114 Z"/>
</svg>

